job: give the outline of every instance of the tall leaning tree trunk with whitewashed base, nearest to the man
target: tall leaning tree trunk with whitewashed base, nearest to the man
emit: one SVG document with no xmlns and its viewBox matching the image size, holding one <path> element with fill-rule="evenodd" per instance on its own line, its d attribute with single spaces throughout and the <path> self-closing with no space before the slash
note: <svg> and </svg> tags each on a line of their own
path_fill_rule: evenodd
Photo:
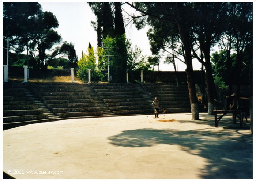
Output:
<svg viewBox="0 0 256 181">
<path fill-rule="evenodd" d="M 190 42 L 189 42 L 189 34 L 187 29 L 189 27 L 186 27 L 186 18 L 184 17 L 184 9 L 182 7 L 181 3 L 176 3 L 178 17 L 177 17 L 177 23 L 178 23 L 178 29 L 179 33 L 184 45 L 184 51 L 185 51 L 185 61 L 186 61 L 186 73 L 188 78 L 188 92 L 189 92 L 189 99 L 190 99 L 190 106 L 191 106 L 191 114 L 192 119 L 199 120 L 199 109 L 197 104 L 197 96 L 196 96 L 196 86 L 193 80 L 193 66 L 192 66 L 192 55 L 191 55 L 191 48 L 190 48 Z"/>
</svg>

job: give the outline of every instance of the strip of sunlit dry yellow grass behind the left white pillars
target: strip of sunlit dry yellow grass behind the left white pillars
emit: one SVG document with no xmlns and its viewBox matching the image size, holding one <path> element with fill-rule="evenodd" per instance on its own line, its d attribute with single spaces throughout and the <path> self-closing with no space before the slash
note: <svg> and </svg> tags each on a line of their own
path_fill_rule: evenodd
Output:
<svg viewBox="0 0 256 181">
<path fill-rule="evenodd" d="M 24 77 L 9 77 L 8 80 L 15 82 L 23 82 Z M 28 82 L 70 82 L 71 76 L 54 76 L 54 77 L 46 77 L 46 78 L 29 78 Z M 75 83 L 83 83 L 78 78 L 74 77 Z"/>
</svg>

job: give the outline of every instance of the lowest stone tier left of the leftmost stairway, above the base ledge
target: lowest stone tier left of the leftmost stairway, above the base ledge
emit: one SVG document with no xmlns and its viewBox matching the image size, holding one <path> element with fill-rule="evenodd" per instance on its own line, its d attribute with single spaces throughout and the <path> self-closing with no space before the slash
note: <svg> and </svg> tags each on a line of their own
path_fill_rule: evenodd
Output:
<svg viewBox="0 0 256 181">
<path fill-rule="evenodd" d="M 4 117 L 3 123 L 14 123 L 14 122 L 23 122 L 23 121 L 30 121 L 30 120 L 40 120 L 40 119 L 47 119 L 48 116 L 44 114 L 39 115 L 25 115 L 25 116 L 10 116 Z"/>
</svg>

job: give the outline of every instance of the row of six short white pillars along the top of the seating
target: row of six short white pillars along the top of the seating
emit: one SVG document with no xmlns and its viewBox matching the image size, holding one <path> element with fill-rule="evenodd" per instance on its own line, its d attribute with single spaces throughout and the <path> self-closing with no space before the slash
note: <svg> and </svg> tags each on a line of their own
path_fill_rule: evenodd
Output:
<svg viewBox="0 0 256 181">
<path fill-rule="evenodd" d="M 4 82 L 8 82 L 8 65 L 4 66 Z M 27 82 L 27 66 L 24 67 L 24 81 L 23 83 Z M 71 82 L 74 83 L 74 68 L 71 68 Z M 126 70 L 126 82 L 129 83 L 129 74 L 128 70 Z M 88 69 L 88 84 L 91 83 L 91 69 Z M 140 72 L 140 83 L 143 83 L 143 70 Z"/>
</svg>

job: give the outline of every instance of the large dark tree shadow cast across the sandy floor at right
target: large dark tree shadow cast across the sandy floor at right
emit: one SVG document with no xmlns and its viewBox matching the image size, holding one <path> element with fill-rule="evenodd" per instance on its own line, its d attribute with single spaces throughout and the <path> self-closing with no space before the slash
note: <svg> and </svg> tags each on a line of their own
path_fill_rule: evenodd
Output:
<svg viewBox="0 0 256 181">
<path fill-rule="evenodd" d="M 239 129 L 213 129 L 216 128 L 188 131 L 145 128 L 124 130 L 108 139 L 111 144 L 122 147 L 180 145 L 181 150 L 207 159 L 199 175 L 202 179 L 253 178 L 252 136 L 237 134 Z"/>
</svg>

